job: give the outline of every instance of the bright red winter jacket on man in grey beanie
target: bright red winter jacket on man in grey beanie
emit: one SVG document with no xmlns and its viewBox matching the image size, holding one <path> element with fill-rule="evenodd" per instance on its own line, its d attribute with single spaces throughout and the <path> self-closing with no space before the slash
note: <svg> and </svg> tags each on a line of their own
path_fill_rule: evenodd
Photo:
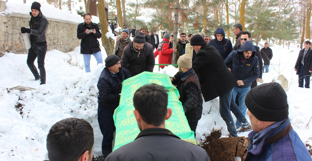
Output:
<svg viewBox="0 0 312 161">
<path fill-rule="evenodd" d="M 156 58 L 158 56 L 158 64 L 171 64 L 171 54 L 173 53 L 172 49 L 169 49 L 169 40 L 163 39 L 163 41 L 167 41 L 168 43 L 163 43 L 163 47 L 161 48 L 161 51 L 158 51 L 158 48 L 160 48 L 160 44 L 158 45 L 157 50 L 154 52 L 154 55 Z M 165 67 L 164 65 L 161 65 L 160 68 Z"/>
</svg>

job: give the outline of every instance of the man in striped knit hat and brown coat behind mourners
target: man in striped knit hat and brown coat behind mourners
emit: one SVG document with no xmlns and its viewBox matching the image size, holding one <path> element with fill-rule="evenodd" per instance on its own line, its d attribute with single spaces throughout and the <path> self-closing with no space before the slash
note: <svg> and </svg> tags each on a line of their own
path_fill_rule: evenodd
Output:
<svg viewBox="0 0 312 161">
<path fill-rule="evenodd" d="M 131 40 L 129 39 L 129 31 L 127 29 L 123 29 L 121 31 L 121 35 L 116 37 L 116 45 L 114 49 L 114 54 L 121 59 L 122 53 L 124 52 L 124 47 L 126 47 Z"/>
</svg>

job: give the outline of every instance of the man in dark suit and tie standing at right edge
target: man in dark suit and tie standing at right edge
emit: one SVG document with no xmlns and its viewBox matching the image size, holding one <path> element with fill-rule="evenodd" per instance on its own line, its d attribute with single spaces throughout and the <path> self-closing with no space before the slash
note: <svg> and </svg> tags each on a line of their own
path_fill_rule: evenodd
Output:
<svg viewBox="0 0 312 161">
<path fill-rule="evenodd" d="M 300 50 L 295 65 L 296 74 L 299 76 L 299 87 L 303 88 L 303 79 L 305 80 L 305 88 L 310 88 L 310 77 L 312 72 L 312 52 L 311 42 L 305 41 L 304 49 Z"/>
</svg>

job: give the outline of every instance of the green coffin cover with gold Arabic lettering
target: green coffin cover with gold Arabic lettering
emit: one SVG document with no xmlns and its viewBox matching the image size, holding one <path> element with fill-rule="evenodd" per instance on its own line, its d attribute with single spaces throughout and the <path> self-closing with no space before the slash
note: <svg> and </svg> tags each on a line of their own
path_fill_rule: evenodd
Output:
<svg viewBox="0 0 312 161">
<path fill-rule="evenodd" d="M 170 130 L 181 139 L 196 144 L 194 132 L 191 131 L 188 125 L 182 103 L 178 98 L 178 89 L 172 85 L 169 75 L 143 72 L 122 82 L 119 106 L 116 108 L 113 116 L 116 127 L 114 150 L 134 141 L 140 133 L 140 129 L 133 114 L 133 96 L 137 89 L 149 83 L 156 83 L 169 90 L 168 108 L 172 109 L 172 115 L 165 121 L 166 129 Z"/>
</svg>

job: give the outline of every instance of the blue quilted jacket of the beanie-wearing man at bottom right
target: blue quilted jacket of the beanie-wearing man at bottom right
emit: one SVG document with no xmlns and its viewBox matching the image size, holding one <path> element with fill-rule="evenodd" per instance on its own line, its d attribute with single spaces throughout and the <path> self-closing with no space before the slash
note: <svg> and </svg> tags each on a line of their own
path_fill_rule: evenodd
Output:
<svg viewBox="0 0 312 161">
<path fill-rule="evenodd" d="M 253 149 L 252 138 L 256 134 L 255 131 L 248 134 L 250 143 L 245 161 L 312 161 L 305 144 L 291 127 L 289 118 L 266 135 L 260 144 Z"/>
</svg>

